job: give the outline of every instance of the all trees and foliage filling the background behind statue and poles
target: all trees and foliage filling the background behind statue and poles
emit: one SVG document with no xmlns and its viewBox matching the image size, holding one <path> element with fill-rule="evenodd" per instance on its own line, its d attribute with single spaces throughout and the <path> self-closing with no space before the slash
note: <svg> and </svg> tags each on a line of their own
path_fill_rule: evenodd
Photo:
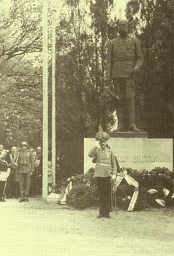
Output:
<svg viewBox="0 0 174 256">
<path fill-rule="evenodd" d="M 106 86 L 107 44 L 117 36 L 118 20 L 111 19 L 113 1 L 87 1 L 86 8 L 82 2 L 64 1 L 57 21 L 56 142 L 62 178 L 83 172 L 83 138 L 94 138 L 99 124 L 113 127 L 113 106 L 102 105 L 99 97 Z M 130 33 L 143 49 L 137 122 L 149 138 L 174 136 L 172 6 L 172 1 L 130 0 L 126 8 Z M 11 1 L 1 15 L 1 142 L 10 147 L 27 140 L 36 147 L 42 144 L 41 1 Z M 50 13 L 48 25 L 50 57 Z M 49 134 L 51 68 L 49 62 Z"/>
</svg>

